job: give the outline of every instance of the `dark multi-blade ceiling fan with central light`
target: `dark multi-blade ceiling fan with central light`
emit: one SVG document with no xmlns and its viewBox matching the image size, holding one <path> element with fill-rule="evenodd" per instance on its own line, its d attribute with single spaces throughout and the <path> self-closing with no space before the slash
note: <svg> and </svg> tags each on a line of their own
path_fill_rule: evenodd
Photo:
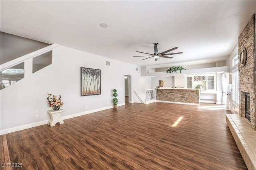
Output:
<svg viewBox="0 0 256 170">
<path fill-rule="evenodd" d="M 164 52 L 162 52 L 162 53 L 158 53 L 157 45 L 158 45 L 158 43 L 154 43 L 154 50 L 155 50 L 154 54 L 136 51 L 136 52 L 138 52 L 138 53 L 144 53 L 144 54 L 149 54 L 149 55 L 140 55 L 140 56 L 133 56 L 133 57 L 148 57 L 148 56 L 150 56 L 150 57 L 148 57 L 148 58 L 154 57 L 154 59 L 157 61 L 158 57 L 173 58 L 173 57 L 168 57 L 168 56 L 165 56 L 165 55 L 174 55 L 174 54 L 182 54 L 182 53 L 183 53 L 183 52 L 179 52 L 179 53 L 168 53 L 168 52 L 170 52 L 170 51 L 172 51 L 172 50 L 174 50 L 174 49 L 177 49 L 178 47 L 174 47 L 174 48 L 168 49 L 167 51 L 164 51 Z M 168 54 L 166 54 L 166 53 L 168 53 Z M 148 58 L 144 58 L 144 59 L 148 59 Z M 142 59 L 142 60 L 144 60 L 144 59 Z"/>
</svg>

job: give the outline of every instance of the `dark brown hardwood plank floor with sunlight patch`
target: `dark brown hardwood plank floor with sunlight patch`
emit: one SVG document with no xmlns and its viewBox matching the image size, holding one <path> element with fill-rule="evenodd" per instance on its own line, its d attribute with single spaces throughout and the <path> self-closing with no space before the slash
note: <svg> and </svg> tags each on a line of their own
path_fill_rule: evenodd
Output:
<svg viewBox="0 0 256 170">
<path fill-rule="evenodd" d="M 0 161 L 9 163 L 6 138 L 10 163 L 22 163 L 13 170 L 246 170 L 227 113 L 212 104 L 126 103 L 1 135 Z"/>
</svg>

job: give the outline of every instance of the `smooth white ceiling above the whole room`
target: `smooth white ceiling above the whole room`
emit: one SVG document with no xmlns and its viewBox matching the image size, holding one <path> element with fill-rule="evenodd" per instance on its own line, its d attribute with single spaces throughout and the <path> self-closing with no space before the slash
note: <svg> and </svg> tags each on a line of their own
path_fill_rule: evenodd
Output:
<svg viewBox="0 0 256 170">
<path fill-rule="evenodd" d="M 244 0 L 0 3 L 2 32 L 154 68 L 225 60 L 256 13 L 256 1 Z M 172 52 L 183 53 L 158 61 L 132 57 L 154 53 L 156 42 L 159 52 L 177 46 Z"/>
</svg>

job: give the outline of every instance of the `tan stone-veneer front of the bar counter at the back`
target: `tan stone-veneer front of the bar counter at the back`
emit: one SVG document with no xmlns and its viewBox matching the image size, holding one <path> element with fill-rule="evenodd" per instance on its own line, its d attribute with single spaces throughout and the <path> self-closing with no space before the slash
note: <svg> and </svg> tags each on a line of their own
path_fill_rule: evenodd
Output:
<svg viewBox="0 0 256 170">
<path fill-rule="evenodd" d="M 199 103 L 199 95 L 196 94 L 195 89 L 158 89 L 156 99 L 182 103 Z"/>
</svg>

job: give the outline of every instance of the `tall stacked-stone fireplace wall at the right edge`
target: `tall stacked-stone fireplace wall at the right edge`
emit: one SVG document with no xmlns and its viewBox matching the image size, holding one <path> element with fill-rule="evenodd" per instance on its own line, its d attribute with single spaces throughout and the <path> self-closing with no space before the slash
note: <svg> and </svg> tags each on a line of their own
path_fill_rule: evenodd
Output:
<svg viewBox="0 0 256 170">
<path fill-rule="evenodd" d="M 250 109 L 251 111 L 251 125 L 254 130 L 256 130 L 256 97 L 255 97 L 255 15 L 253 15 L 247 26 L 244 28 L 242 33 L 238 38 L 238 54 L 242 49 L 246 48 L 247 59 L 246 64 L 242 66 L 238 64 L 239 71 L 239 90 L 240 90 L 240 106 L 239 106 L 239 115 L 245 117 L 245 99 L 244 93 L 250 93 Z M 239 56 L 240 61 L 240 56 Z"/>
</svg>

